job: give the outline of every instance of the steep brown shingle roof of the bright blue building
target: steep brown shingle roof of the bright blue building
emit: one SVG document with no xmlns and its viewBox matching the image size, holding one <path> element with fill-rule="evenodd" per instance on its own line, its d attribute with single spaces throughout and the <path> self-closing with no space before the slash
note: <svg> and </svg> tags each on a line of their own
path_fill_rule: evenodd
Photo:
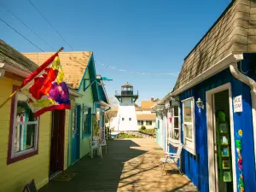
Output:
<svg viewBox="0 0 256 192">
<path fill-rule="evenodd" d="M 185 58 L 174 90 L 188 84 L 230 53 L 255 51 L 256 3 L 232 1 Z"/>
</svg>

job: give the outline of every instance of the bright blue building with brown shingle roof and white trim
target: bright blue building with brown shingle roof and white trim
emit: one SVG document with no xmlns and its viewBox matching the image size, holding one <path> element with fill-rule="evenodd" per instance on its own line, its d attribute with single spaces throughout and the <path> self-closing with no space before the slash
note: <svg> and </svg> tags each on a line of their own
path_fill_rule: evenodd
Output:
<svg viewBox="0 0 256 192">
<path fill-rule="evenodd" d="M 183 143 L 181 169 L 202 192 L 256 191 L 255 7 L 232 1 L 159 102 L 170 103 L 169 150 Z"/>
</svg>

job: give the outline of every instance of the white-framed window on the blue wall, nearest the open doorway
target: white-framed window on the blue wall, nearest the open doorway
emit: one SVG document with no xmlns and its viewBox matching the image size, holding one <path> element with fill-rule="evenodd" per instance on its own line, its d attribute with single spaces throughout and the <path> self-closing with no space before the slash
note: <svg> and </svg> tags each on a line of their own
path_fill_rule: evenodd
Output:
<svg viewBox="0 0 256 192">
<path fill-rule="evenodd" d="M 194 98 L 183 101 L 183 133 L 184 148 L 191 154 L 195 154 L 195 104 Z"/>
</svg>

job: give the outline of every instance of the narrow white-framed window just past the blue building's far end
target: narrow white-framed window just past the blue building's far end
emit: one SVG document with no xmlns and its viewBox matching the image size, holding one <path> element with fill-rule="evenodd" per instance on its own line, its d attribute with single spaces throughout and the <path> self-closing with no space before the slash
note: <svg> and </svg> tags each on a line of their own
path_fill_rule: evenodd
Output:
<svg viewBox="0 0 256 192">
<path fill-rule="evenodd" d="M 173 106 L 171 108 L 171 119 L 169 119 L 172 123 L 171 125 L 171 140 L 173 143 L 179 143 L 179 137 L 180 137 L 180 126 L 179 126 L 179 108 L 178 106 Z"/>
</svg>

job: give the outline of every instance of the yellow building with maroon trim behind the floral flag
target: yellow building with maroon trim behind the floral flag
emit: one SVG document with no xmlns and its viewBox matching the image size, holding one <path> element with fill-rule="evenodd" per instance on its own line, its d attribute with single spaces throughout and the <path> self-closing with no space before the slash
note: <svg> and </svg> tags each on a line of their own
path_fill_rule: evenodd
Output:
<svg viewBox="0 0 256 192">
<path fill-rule="evenodd" d="M 0 40 L 0 103 L 37 68 L 38 65 Z M 70 87 L 69 93 L 74 106 L 80 94 Z M 0 179 L 1 191 L 22 191 L 32 178 L 40 189 L 49 182 L 52 172 L 67 169 L 69 110 L 46 112 L 35 118 L 26 101 L 27 97 L 18 92 L 0 108 L 0 164 L 4 175 Z M 52 132 L 55 128 L 60 131 L 59 136 Z M 56 137 L 61 141 L 59 146 L 55 144 Z M 59 154 L 55 153 L 57 147 Z"/>
</svg>

